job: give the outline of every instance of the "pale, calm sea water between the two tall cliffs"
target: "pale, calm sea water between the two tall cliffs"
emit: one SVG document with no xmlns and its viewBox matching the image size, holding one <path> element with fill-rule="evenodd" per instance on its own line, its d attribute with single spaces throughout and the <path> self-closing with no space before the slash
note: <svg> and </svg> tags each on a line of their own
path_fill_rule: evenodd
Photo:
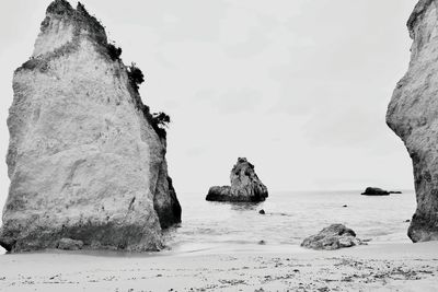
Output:
<svg viewBox="0 0 438 292">
<path fill-rule="evenodd" d="M 208 202 L 204 194 L 181 194 L 183 222 L 165 233 L 166 244 L 176 253 L 299 248 L 304 237 L 332 223 L 347 225 L 371 244 L 410 243 L 406 220 L 415 212 L 414 191 L 360 192 L 273 192 L 261 203 Z"/>
</svg>

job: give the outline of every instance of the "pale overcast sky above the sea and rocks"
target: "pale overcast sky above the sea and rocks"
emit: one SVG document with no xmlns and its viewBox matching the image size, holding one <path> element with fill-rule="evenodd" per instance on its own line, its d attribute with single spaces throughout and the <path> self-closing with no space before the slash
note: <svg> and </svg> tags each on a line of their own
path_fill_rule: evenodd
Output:
<svg viewBox="0 0 438 292">
<path fill-rule="evenodd" d="M 12 73 L 32 55 L 50 1 L 0 1 L 3 205 Z M 177 192 L 229 184 L 240 156 L 269 191 L 413 189 L 411 160 L 384 117 L 407 69 L 416 0 L 82 3 L 124 62 L 143 71 L 143 102 L 171 116 Z"/>
</svg>

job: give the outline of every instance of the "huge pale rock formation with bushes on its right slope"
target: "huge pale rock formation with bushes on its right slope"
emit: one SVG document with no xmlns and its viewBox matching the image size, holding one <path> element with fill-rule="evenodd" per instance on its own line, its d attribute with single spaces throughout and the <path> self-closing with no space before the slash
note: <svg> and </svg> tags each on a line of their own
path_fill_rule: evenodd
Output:
<svg viewBox="0 0 438 292">
<path fill-rule="evenodd" d="M 82 4 L 48 7 L 33 56 L 13 78 L 5 249 L 76 241 L 158 250 L 162 229 L 181 221 L 165 131 L 119 54 Z"/>
</svg>

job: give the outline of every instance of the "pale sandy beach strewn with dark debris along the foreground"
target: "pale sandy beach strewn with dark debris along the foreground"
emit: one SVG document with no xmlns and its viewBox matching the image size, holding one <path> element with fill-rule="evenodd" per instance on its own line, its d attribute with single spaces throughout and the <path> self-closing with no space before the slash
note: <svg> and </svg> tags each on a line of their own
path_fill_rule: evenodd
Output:
<svg viewBox="0 0 438 292">
<path fill-rule="evenodd" d="M 262 248 L 3 255 L 0 291 L 438 291 L 438 242 L 335 252 Z"/>
</svg>

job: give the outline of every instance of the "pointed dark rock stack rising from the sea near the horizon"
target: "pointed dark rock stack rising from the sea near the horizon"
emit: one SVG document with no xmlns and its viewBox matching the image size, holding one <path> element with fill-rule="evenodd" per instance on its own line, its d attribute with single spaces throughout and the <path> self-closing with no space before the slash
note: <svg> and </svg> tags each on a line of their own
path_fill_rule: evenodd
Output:
<svg viewBox="0 0 438 292">
<path fill-rule="evenodd" d="M 266 186 L 255 174 L 254 165 L 246 159 L 238 159 L 238 163 L 231 170 L 230 180 L 231 186 L 211 187 L 206 200 L 260 202 L 268 196 Z"/>
</svg>

